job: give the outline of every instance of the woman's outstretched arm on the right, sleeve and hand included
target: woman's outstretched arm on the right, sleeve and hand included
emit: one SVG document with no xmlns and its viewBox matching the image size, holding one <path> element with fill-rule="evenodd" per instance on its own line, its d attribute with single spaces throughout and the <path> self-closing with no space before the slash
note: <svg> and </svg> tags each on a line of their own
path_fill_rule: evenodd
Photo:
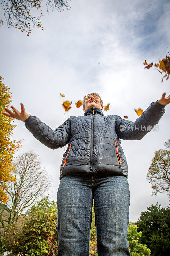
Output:
<svg viewBox="0 0 170 256">
<path fill-rule="evenodd" d="M 162 98 L 151 105 L 136 119 L 135 122 L 125 120 L 116 115 L 115 130 L 120 139 L 141 140 L 156 124 L 165 113 L 164 107 L 170 103 L 170 95 Z M 147 129 L 149 126 L 150 129 Z"/>
</svg>

